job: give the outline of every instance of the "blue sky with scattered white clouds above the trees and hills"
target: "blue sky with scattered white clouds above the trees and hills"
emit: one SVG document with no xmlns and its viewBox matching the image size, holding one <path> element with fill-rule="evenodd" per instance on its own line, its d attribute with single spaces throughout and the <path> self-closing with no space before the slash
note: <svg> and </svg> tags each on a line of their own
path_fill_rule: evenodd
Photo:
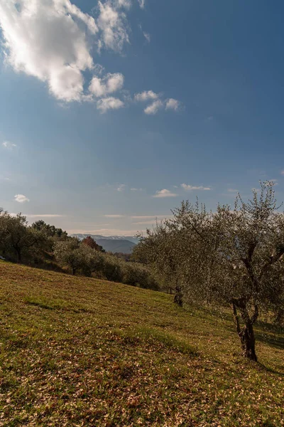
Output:
<svg viewBox="0 0 284 427">
<path fill-rule="evenodd" d="M 136 235 L 259 180 L 284 200 L 284 4 L 0 0 L 0 206 Z"/>
</svg>

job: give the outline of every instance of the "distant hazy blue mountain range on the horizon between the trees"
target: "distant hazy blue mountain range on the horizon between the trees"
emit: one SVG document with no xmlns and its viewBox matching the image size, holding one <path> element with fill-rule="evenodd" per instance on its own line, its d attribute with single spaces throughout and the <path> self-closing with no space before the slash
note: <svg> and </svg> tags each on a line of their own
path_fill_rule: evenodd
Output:
<svg viewBox="0 0 284 427">
<path fill-rule="evenodd" d="M 131 253 L 139 239 L 133 236 L 101 236 L 99 234 L 72 234 L 72 237 L 83 238 L 91 236 L 98 245 L 108 252 Z"/>
</svg>

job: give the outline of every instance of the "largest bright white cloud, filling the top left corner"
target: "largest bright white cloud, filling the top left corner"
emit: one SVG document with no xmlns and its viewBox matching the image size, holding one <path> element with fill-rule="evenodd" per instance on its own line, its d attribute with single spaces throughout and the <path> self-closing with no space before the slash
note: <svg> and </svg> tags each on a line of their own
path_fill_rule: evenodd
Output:
<svg viewBox="0 0 284 427">
<path fill-rule="evenodd" d="M 0 0 L 0 26 L 14 70 L 48 83 L 59 100 L 81 99 L 82 71 L 93 66 L 87 33 L 98 31 L 92 16 L 70 0 Z"/>
</svg>

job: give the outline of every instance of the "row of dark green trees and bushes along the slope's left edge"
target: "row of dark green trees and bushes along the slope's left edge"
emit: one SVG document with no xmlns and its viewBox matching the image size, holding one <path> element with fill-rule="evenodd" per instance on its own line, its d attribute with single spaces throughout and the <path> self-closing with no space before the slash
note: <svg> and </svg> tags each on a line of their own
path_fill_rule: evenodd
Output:
<svg viewBox="0 0 284 427">
<path fill-rule="evenodd" d="M 0 209 L 0 255 L 18 263 L 58 268 L 114 282 L 158 290 L 158 281 L 149 269 L 105 253 L 92 237 L 80 241 L 61 228 L 44 221 L 28 225 L 26 217 L 12 216 Z"/>
</svg>

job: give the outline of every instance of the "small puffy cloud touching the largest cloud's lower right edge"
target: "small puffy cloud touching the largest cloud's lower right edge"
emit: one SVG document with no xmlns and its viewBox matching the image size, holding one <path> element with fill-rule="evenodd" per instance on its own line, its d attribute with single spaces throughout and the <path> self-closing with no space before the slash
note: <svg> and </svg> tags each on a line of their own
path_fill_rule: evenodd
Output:
<svg viewBox="0 0 284 427">
<path fill-rule="evenodd" d="M 89 91 L 96 97 L 104 97 L 123 88 L 124 76 L 121 73 L 107 74 L 104 78 L 94 76 Z"/>
</svg>

